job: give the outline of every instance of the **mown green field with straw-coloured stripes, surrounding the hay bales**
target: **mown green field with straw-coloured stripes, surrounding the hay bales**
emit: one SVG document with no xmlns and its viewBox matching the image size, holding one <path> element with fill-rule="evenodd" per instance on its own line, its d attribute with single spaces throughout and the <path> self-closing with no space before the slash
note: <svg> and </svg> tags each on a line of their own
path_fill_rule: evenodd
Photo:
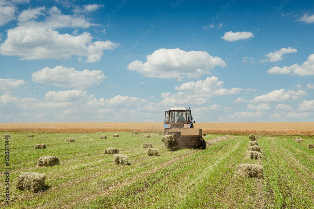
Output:
<svg viewBox="0 0 314 209">
<path fill-rule="evenodd" d="M 0 133 L 3 134 L 3 133 Z M 7 133 L 6 133 L 7 134 Z M 12 132 L 10 141 L 9 208 L 313 208 L 314 137 L 261 136 L 262 160 L 245 157 L 247 135 L 236 135 L 206 150 L 167 150 L 160 135 L 150 133 L 36 133 Z M 106 135 L 107 139 L 100 139 Z M 223 135 L 207 135 L 210 140 Z M 65 142 L 66 138 L 76 142 Z M 46 144 L 34 150 L 35 144 Z M 148 156 L 143 143 L 152 143 L 159 156 Z M 129 157 L 130 165 L 114 165 L 116 147 Z M 60 165 L 38 167 L 37 159 L 52 155 Z M 1 140 L 4 159 L 4 140 Z M 4 168 L 4 160 L 1 160 Z M 236 174 L 238 164 L 259 164 L 263 178 Z M 3 169 L 2 169 L 3 170 Z M 46 174 L 45 191 L 31 193 L 15 189 L 22 172 Z M 2 172 L 3 173 L 3 172 Z M 5 177 L 1 175 L 1 208 Z M 8 207 L 8 206 L 7 206 Z"/>
</svg>

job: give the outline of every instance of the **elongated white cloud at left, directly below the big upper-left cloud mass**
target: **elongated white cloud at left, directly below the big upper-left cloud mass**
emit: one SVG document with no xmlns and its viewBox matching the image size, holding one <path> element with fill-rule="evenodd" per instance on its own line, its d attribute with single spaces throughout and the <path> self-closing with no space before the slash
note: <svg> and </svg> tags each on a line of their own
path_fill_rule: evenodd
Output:
<svg viewBox="0 0 314 209">
<path fill-rule="evenodd" d="M 45 67 L 41 71 L 32 74 L 32 81 L 37 83 L 52 84 L 66 88 L 87 89 L 92 85 L 99 85 L 104 78 L 107 78 L 102 71 L 76 71 L 73 67 L 66 68 L 56 66 L 50 69 Z"/>
</svg>

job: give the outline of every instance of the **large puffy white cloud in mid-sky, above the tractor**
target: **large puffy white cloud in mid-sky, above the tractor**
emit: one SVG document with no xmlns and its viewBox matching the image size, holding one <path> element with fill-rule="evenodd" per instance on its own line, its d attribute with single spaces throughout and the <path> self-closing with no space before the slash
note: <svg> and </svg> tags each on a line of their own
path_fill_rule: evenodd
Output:
<svg viewBox="0 0 314 209">
<path fill-rule="evenodd" d="M 210 74 L 215 66 L 225 67 L 220 57 L 213 57 L 205 51 L 189 51 L 180 49 L 159 49 L 147 56 L 147 61 L 135 60 L 127 65 L 130 71 L 137 71 L 151 78 L 200 78 Z"/>
</svg>

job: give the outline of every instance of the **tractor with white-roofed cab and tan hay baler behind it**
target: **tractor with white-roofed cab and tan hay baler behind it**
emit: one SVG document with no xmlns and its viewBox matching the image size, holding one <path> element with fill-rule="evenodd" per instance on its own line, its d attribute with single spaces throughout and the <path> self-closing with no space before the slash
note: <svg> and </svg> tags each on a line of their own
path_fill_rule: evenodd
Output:
<svg viewBox="0 0 314 209">
<path fill-rule="evenodd" d="M 206 149 L 205 140 L 202 137 L 202 129 L 194 128 L 190 108 L 174 107 L 165 111 L 165 135 L 173 135 L 171 143 L 165 143 L 167 149 L 173 146 L 193 149 Z"/>
</svg>

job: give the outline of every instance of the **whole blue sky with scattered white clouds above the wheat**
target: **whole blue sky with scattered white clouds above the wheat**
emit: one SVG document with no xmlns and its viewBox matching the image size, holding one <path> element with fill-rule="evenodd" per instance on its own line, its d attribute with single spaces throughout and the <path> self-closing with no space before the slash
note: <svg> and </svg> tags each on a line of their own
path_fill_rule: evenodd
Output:
<svg viewBox="0 0 314 209">
<path fill-rule="evenodd" d="M 0 122 L 314 122 L 308 1 L 0 0 Z"/>
</svg>

